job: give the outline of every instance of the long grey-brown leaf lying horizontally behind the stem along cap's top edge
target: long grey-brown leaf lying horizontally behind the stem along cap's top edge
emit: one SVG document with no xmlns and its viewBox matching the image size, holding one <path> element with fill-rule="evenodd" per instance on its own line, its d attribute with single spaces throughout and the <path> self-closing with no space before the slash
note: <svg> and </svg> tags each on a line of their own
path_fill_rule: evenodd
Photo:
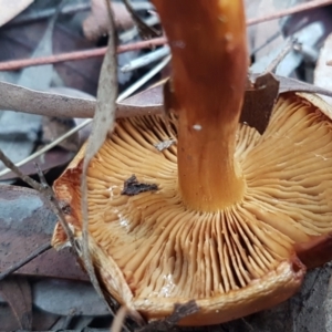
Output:
<svg viewBox="0 0 332 332">
<path fill-rule="evenodd" d="M 259 77 L 259 75 L 252 75 L 251 80 L 255 81 L 257 77 Z M 330 91 L 295 79 L 279 75 L 273 75 L 273 77 L 280 83 L 279 93 L 298 91 L 332 96 L 332 89 Z M 158 84 L 122 102 L 117 102 L 116 118 L 135 115 L 162 114 L 164 110 L 163 86 L 164 84 Z M 271 95 L 273 96 L 273 93 Z M 248 108 L 250 110 L 250 107 L 251 106 L 247 106 L 246 104 L 243 105 L 246 115 L 241 116 L 241 122 L 250 123 L 256 127 L 256 122 L 252 122 L 249 116 L 250 112 Z M 86 118 L 93 117 L 94 115 L 95 100 L 44 93 L 0 82 L 0 108 L 46 116 Z M 263 125 L 259 127 L 259 131 L 261 131 Z"/>
</svg>

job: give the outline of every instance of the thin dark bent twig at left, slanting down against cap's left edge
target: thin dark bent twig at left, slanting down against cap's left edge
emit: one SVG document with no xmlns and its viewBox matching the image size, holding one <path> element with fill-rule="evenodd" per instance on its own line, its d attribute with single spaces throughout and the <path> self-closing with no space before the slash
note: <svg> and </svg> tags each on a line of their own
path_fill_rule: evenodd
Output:
<svg viewBox="0 0 332 332">
<path fill-rule="evenodd" d="M 59 221 L 61 226 L 63 227 L 66 237 L 74 249 L 74 252 L 77 255 L 76 245 L 74 241 L 73 234 L 69 227 L 69 225 L 65 221 L 65 218 L 63 216 L 62 209 L 54 196 L 54 193 L 51 187 L 48 186 L 46 183 L 39 184 L 34 179 L 32 179 L 30 176 L 24 175 L 0 149 L 0 160 L 13 173 L 15 173 L 24 183 L 27 183 L 29 186 L 31 186 L 33 189 L 38 190 L 40 194 L 42 194 L 44 197 L 46 197 L 46 201 L 49 203 L 50 208 L 52 211 L 59 218 Z"/>
</svg>

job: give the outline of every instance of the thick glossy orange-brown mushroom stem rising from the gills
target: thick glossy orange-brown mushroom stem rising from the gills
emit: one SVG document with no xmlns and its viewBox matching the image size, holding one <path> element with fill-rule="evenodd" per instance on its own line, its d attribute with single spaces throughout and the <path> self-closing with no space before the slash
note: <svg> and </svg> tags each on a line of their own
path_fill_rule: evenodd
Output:
<svg viewBox="0 0 332 332">
<path fill-rule="evenodd" d="M 170 108 L 178 114 L 184 203 L 216 211 L 241 200 L 234 158 L 247 75 L 241 0 L 154 0 L 173 54 Z"/>
</svg>

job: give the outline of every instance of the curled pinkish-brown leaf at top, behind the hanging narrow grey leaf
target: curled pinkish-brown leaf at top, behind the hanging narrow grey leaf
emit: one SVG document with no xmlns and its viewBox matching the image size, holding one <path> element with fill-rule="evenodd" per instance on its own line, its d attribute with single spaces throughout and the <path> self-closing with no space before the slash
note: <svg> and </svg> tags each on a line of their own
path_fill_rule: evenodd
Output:
<svg viewBox="0 0 332 332">
<path fill-rule="evenodd" d="M 91 0 L 91 13 L 83 22 L 84 35 L 92 41 L 108 34 L 110 18 L 107 14 L 105 0 Z M 134 25 L 134 21 L 126 7 L 121 2 L 112 2 L 115 25 L 120 29 L 128 29 Z"/>
</svg>

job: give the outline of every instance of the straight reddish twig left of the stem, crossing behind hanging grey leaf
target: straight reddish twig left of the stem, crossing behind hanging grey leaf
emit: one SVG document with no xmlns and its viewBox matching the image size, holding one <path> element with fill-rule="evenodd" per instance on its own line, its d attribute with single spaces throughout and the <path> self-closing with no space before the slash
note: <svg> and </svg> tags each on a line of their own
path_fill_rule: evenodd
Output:
<svg viewBox="0 0 332 332">
<path fill-rule="evenodd" d="M 124 53 L 128 51 L 142 50 L 147 48 L 153 48 L 157 45 L 163 45 L 167 42 L 165 37 L 155 38 L 146 41 L 139 41 L 136 43 L 131 43 L 126 45 L 120 45 L 116 49 L 117 53 Z M 69 52 L 62 54 L 55 54 L 50 56 L 40 56 L 34 59 L 22 59 L 22 60 L 13 60 L 7 62 L 0 62 L 0 71 L 14 71 L 27 66 L 40 65 L 40 64 L 50 64 L 50 63 L 59 63 L 64 61 L 75 61 L 75 60 L 84 60 L 91 58 L 103 56 L 106 53 L 107 48 L 85 50 L 85 51 L 76 51 Z"/>
</svg>

